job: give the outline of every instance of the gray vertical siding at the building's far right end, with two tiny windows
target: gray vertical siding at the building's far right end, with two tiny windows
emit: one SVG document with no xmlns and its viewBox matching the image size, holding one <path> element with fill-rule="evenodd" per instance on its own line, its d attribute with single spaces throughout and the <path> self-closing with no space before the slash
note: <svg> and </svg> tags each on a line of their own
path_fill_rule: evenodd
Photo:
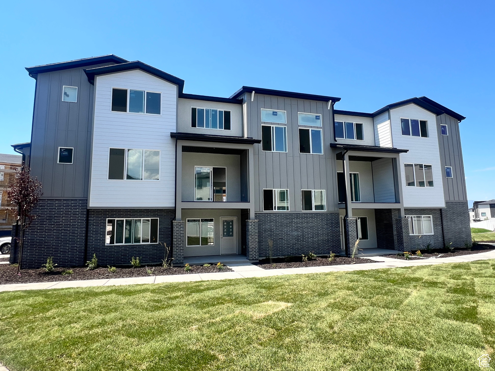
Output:
<svg viewBox="0 0 495 371">
<path fill-rule="evenodd" d="M 448 135 L 442 135 L 440 125 L 447 125 Z M 446 201 L 467 201 L 459 122 L 444 113 L 437 116 L 437 131 L 445 199 Z M 452 178 L 446 178 L 446 166 L 452 167 Z"/>
</svg>

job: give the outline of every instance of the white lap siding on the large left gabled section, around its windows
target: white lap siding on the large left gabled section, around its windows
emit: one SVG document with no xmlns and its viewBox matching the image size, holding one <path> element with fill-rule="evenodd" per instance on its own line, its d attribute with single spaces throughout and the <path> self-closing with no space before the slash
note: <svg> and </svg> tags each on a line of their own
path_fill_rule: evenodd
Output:
<svg viewBox="0 0 495 371">
<path fill-rule="evenodd" d="M 161 92 L 161 115 L 111 111 L 113 88 Z M 177 87 L 143 71 L 95 79 L 90 207 L 174 207 Z M 108 180 L 109 148 L 159 149 L 159 181 Z"/>
</svg>

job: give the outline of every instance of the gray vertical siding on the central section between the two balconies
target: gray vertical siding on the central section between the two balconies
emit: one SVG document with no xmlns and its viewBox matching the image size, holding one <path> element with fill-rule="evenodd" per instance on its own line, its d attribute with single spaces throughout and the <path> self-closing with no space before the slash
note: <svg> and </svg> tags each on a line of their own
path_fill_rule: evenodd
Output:
<svg viewBox="0 0 495 371">
<path fill-rule="evenodd" d="M 287 111 L 287 152 L 267 152 L 261 144 L 254 145 L 254 199 L 255 211 L 263 211 L 263 188 L 289 189 L 290 211 L 301 211 L 301 189 L 325 189 L 327 211 L 337 209 L 337 177 L 330 123 L 332 108 L 327 102 L 288 98 L 272 95 L 244 95 L 247 103 L 247 137 L 261 139 L 261 109 Z M 322 116 L 322 127 L 299 126 L 297 112 Z M 263 123 L 265 124 L 265 123 Z M 282 125 L 270 124 L 267 125 Z M 283 125 L 282 125 L 283 126 Z M 323 154 L 299 153 L 299 128 L 323 130 Z"/>
</svg>

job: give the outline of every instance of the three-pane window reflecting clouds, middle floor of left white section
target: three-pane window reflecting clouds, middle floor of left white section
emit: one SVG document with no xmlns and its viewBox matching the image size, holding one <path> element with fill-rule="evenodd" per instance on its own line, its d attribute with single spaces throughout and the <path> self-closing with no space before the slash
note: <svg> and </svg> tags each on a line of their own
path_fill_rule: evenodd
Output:
<svg viewBox="0 0 495 371">
<path fill-rule="evenodd" d="M 160 179 L 160 151 L 110 148 L 108 179 L 158 181 Z"/>
</svg>

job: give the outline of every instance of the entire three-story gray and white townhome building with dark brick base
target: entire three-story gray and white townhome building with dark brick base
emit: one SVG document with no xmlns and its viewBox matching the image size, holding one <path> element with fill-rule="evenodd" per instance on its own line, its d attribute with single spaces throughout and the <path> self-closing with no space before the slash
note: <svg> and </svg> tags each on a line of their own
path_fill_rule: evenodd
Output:
<svg viewBox="0 0 495 371">
<path fill-rule="evenodd" d="M 114 55 L 27 70 L 32 140 L 18 150 L 44 195 L 24 267 L 159 263 L 163 243 L 182 264 L 471 241 L 464 117 L 426 97 L 362 113 L 252 87 L 202 96 Z"/>
</svg>

